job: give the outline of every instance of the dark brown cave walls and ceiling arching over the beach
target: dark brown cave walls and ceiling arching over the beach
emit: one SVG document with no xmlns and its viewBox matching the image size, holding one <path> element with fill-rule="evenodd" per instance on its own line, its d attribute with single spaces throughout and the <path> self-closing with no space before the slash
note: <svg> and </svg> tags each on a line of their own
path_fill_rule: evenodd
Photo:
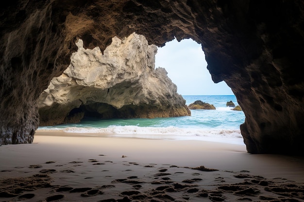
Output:
<svg viewBox="0 0 304 202">
<path fill-rule="evenodd" d="M 235 93 L 250 153 L 304 155 L 303 0 L 11 0 L 0 8 L 0 140 L 33 140 L 36 100 L 75 42 L 101 51 L 136 31 L 157 46 L 191 37 Z M 181 72 L 182 74 L 182 72 Z"/>
</svg>

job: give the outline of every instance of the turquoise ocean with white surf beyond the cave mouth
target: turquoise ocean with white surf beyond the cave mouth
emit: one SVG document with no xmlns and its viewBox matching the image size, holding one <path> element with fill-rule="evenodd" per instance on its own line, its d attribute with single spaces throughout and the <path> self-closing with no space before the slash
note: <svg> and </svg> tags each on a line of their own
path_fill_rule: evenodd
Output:
<svg viewBox="0 0 304 202">
<path fill-rule="evenodd" d="M 146 138 L 162 140 L 206 140 L 244 144 L 239 126 L 244 123 L 243 111 L 226 107 L 228 101 L 238 105 L 235 95 L 183 95 L 186 105 L 196 100 L 212 104 L 215 110 L 193 109 L 191 116 L 154 119 L 84 118 L 77 124 L 38 127 L 37 131 L 61 131 L 90 136 Z"/>
</svg>

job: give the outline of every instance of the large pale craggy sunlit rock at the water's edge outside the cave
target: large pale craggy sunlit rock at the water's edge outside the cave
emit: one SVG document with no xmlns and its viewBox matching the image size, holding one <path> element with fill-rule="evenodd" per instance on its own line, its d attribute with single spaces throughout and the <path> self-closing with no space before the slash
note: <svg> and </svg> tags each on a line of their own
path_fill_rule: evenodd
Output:
<svg viewBox="0 0 304 202">
<path fill-rule="evenodd" d="M 39 97 L 40 125 L 99 118 L 188 116 L 190 110 L 164 68 L 156 68 L 157 47 L 136 33 L 112 39 L 103 54 L 84 49 L 81 39 L 71 64 Z"/>
</svg>

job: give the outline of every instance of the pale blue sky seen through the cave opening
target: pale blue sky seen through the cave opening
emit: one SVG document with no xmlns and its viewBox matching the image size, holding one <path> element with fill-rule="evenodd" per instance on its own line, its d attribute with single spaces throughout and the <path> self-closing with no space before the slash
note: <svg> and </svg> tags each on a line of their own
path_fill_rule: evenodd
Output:
<svg viewBox="0 0 304 202">
<path fill-rule="evenodd" d="M 233 95 L 224 81 L 214 83 L 200 44 L 192 39 L 176 39 L 158 47 L 155 68 L 164 67 L 181 95 Z"/>
</svg>

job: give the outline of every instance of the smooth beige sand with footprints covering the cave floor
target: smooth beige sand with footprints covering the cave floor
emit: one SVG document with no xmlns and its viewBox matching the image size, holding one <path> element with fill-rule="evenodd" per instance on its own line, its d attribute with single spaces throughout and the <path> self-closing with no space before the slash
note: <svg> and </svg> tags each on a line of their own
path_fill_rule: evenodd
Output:
<svg viewBox="0 0 304 202">
<path fill-rule="evenodd" d="M 304 202 L 304 157 L 245 145 L 36 132 L 0 146 L 0 201 Z"/>
</svg>

